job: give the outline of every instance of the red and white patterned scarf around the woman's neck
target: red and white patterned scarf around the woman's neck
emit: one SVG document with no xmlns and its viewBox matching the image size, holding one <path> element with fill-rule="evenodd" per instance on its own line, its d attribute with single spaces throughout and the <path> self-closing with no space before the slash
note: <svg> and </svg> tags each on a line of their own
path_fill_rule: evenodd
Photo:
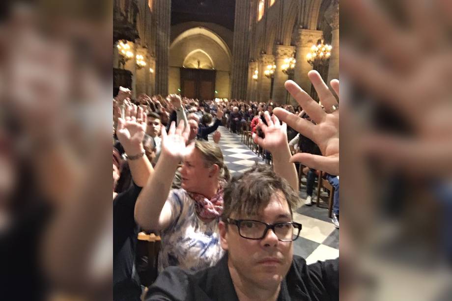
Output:
<svg viewBox="0 0 452 301">
<path fill-rule="evenodd" d="M 223 213 L 223 188 L 225 184 L 224 182 L 220 182 L 220 188 L 210 200 L 202 194 L 188 192 L 190 197 L 195 200 L 196 213 L 199 217 L 203 219 L 221 217 Z"/>
</svg>

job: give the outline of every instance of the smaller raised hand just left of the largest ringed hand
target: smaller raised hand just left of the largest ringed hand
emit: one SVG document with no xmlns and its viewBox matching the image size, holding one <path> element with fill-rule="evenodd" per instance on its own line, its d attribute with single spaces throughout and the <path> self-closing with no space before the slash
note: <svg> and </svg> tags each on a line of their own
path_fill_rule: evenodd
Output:
<svg viewBox="0 0 452 301">
<path fill-rule="evenodd" d="M 278 150 L 283 150 L 284 145 L 287 144 L 287 125 L 285 123 L 281 125 L 278 117 L 275 114 L 270 117 L 268 112 L 265 112 L 265 120 L 267 121 L 267 125 L 261 119 L 259 119 L 258 125 L 265 134 L 265 137 L 261 138 L 253 134 L 253 139 L 255 143 L 274 154 Z"/>
</svg>

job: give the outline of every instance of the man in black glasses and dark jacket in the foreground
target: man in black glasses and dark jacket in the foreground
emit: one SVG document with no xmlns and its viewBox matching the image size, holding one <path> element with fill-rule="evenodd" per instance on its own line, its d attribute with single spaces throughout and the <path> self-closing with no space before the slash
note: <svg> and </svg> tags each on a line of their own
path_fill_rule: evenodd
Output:
<svg viewBox="0 0 452 301">
<path fill-rule="evenodd" d="M 219 225 L 226 255 L 197 274 L 169 267 L 146 300 L 339 300 L 338 260 L 307 266 L 293 255 L 292 241 L 302 229 L 292 220 L 298 202 L 267 165 L 234 178 L 225 188 Z"/>
</svg>

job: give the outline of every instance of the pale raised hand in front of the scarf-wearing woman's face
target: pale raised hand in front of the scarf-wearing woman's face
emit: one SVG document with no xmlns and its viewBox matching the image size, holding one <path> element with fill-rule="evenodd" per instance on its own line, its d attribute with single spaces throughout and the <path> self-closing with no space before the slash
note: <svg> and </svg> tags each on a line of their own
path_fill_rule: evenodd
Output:
<svg viewBox="0 0 452 301">
<path fill-rule="evenodd" d="M 171 159 L 182 160 L 185 153 L 185 143 L 190 135 L 190 127 L 185 127 L 184 121 L 181 120 L 176 128 L 175 122 L 171 122 L 169 131 L 162 127 L 162 155 Z"/>
</svg>

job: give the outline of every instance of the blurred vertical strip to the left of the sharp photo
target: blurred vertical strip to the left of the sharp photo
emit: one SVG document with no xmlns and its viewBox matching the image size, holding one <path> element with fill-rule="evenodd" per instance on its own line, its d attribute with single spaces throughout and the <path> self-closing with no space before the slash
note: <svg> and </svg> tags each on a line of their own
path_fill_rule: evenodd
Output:
<svg viewBox="0 0 452 301">
<path fill-rule="evenodd" d="M 0 5 L 0 299 L 112 300 L 112 3 Z"/>
</svg>

